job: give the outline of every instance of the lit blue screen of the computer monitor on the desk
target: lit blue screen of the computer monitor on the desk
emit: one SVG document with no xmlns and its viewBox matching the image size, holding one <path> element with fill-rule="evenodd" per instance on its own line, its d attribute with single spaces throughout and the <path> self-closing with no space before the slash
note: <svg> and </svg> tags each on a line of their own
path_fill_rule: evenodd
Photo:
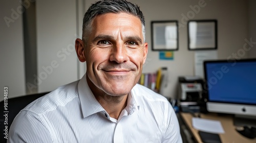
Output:
<svg viewBox="0 0 256 143">
<path fill-rule="evenodd" d="M 206 62 L 209 101 L 256 105 L 256 61 Z"/>
</svg>

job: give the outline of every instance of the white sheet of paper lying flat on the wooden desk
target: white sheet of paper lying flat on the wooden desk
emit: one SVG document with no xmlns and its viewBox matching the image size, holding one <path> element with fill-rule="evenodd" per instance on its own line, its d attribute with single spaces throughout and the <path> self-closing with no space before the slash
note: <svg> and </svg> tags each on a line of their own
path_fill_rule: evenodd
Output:
<svg viewBox="0 0 256 143">
<path fill-rule="evenodd" d="M 192 125 L 195 129 L 209 132 L 209 133 L 216 133 L 216 134 L 223 134 L 225 133 L 221 122 L 216 120 L 208 120 L 199 117 L 192 118 Z"/>
</svg>

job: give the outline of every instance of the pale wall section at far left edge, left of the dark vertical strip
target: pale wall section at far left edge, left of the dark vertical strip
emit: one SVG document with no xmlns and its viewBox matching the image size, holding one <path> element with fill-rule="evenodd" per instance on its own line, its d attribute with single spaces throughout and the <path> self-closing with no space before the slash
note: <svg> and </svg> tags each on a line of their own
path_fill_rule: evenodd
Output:
<svg viewBox="0 0 256 143">
<path fill-rule="evenodd" d="M 0 7 L 0 101 L 2 101 L 5 86 L 9 89 L 8 98 L 25 94 L 25 66 L 20 3 L 14 0 L 1 1 Z M 4 18 L 8 19 L 8 22 Z"/>
</svg>

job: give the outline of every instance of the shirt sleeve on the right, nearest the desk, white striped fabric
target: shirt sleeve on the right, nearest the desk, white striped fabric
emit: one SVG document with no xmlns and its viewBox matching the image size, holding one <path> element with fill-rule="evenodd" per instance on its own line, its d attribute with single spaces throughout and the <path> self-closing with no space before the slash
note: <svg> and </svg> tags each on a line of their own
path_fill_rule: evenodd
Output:
<svg viewBox="0 0 256 143">
<path fill-rule="evenodd" d="M 166 131 L 162 142 L 182 143 L 180 125 L 173 107 L 170 104 L 168 104 L 166 111 Z"/>
</svg>

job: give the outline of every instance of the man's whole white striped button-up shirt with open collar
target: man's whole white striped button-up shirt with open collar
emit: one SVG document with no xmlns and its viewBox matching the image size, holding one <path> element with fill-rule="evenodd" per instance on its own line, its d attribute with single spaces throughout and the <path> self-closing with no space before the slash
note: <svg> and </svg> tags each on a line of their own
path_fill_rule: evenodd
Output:
<svg viewBox="0 0 256 143">
<path fill-rule="evenodd" d="M 135 85 L 118 120 L 90 90 L 86 76 L 18 113 L 7 142 L 182 142 L 177 116 L 160 94 Z"/>
</svg>

